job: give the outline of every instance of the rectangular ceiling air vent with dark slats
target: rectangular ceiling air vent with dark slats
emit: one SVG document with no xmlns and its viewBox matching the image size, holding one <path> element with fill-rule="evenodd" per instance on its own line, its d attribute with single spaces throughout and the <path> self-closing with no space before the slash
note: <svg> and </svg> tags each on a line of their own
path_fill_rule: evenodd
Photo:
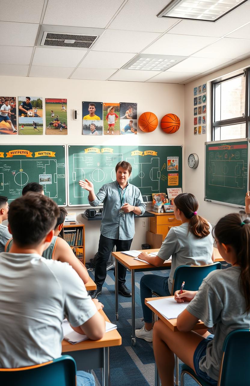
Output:
<svg viewBox="0 0 250 386">
<path fill-rule="evenodd" d="M 61 34 L 57 32 L 44 32 L 41 46 L 63 48 L 90 48 L 99 35 Z"/>
</svg>

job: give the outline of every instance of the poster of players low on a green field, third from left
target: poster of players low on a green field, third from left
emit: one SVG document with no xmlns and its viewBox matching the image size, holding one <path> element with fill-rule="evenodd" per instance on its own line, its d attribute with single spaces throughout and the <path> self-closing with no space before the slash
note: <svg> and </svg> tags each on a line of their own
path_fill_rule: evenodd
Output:
<svg viewBox="0 0 250 386">
<path fill-rule="evenodd" d="M 67 135 L 67 99 L 45 98 L 46 135 Z"/>
</svg>

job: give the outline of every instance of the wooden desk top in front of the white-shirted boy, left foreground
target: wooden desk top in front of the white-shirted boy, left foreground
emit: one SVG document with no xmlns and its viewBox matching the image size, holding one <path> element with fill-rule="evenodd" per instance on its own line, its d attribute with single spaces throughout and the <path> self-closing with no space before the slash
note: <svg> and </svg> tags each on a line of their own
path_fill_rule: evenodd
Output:
<svg viewBox="0 0 250 386">
<path fill-rule="evenodd" d="M 99 311 L 107 322 L 110 322 L 107 315 L 103 310 Z M 84 340 L 77 344 L 71 344 L 63 339 L 62 341 L 62 353 L 69 351 L 79 351 L 88 349 L 100 349 L 101 347 L 120 346 L 122 344 L 122 337 L 117 330 L 106 332 L 100 340 Z"/>
</svg>

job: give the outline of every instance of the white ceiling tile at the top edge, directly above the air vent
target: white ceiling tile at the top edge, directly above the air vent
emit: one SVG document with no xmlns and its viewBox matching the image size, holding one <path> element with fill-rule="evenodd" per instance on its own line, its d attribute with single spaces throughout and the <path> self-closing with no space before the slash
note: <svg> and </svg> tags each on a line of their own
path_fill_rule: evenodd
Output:
<svg viewBox="0 0 250 386">
<path fill-rule="evenodd" d="M 43 24 L 105 28 L 123 0 L 48 0 Z"/>
</svg>

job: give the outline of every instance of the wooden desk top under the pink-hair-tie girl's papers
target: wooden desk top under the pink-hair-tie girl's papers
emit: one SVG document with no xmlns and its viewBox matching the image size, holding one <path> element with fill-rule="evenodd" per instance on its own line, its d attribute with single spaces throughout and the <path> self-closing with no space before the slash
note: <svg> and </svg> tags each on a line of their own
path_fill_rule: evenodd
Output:
<svg viewBox="0 0 250 386">
<path fill-rule="evenodd" d="M 156 249 L 138 249 L 138 251 L 142 252 L 158 252 L 159 248 Z M 217 261 L 224 261 L 222 257 L 219 254 L 219 251 L 217 248 L 214 248 L 215 251 L 215 262 Z M 146 264 L 142 261 L 135 260 L 132 256 L 124 255 L 122 252 L 112 252 L 112 256 L 115 257 L 118 261 L 120 261 L 125 267 L 128 269 L 144 269 L 144 268 L 154 268 L 152 264 Z M 171 262 L 167 262 L 162 264 L 161 267 L 171 267 Z"/>
</svg>

